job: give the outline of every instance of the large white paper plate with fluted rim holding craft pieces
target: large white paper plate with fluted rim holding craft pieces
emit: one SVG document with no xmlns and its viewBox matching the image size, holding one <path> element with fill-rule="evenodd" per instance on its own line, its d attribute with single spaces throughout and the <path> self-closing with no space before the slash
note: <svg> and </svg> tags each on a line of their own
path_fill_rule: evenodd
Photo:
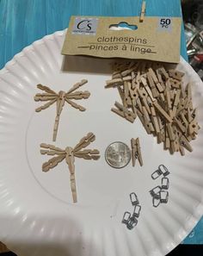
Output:
<svg viewBox="0 0 203 256">
<path fill-rule="evenodd" d="M 181 157 L 163 151 L 145 134 L 138 120 L 132 125 L 110 111 L 115 90 L 105 90 L 109 76 L 61 72 L 60 49 L 65 32 L 34 42 L 0 71 L 0 240 L 18 255 L 159 256 L 169 253 L 194 228 L 203 213 L 203 133 L 192 142 L 193 153 Z M 178 69 L 194 82 L 194 103 L 203 127 L 203 87 L 200 78 L 181 59 Z M 41 172 L 46 156 L 40 143 L 52 143 L 55 106 L 35 113 L 36 84 L 68 91 L 82 78 L 89 83 L 85 112 L 67 105 L 58 128 L 58 147 L 74 146 L 88 132 L 96 135 L 91 148 L 101 159 L 76 159 L 77 204 L 71 203 L 68 166 L 60 163 Z M 105 161 L 108 144 L 120 140 L 130 145 L 139 137 L 145 165 L 115 170 Z M 161 183 L 152 180 L 157 166 L 168 167 L 169 203 L 152 206 L 149 190 Z M 142 206 L 138 226 L 131 231 L 121 223 L 132 211 L 129 194 Z"/>
</svg>

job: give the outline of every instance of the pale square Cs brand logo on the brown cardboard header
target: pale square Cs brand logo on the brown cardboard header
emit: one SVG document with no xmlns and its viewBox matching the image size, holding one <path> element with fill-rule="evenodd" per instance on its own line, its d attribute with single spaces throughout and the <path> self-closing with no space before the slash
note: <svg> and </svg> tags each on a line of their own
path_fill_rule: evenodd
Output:
<svg viewBox="0 0 203 256">
<path fill-rule="evenodd" d="M 95 35 L 98 24 L 98 18 L 76 17 L 72 34 L 92 34 Z"/>
</svg>

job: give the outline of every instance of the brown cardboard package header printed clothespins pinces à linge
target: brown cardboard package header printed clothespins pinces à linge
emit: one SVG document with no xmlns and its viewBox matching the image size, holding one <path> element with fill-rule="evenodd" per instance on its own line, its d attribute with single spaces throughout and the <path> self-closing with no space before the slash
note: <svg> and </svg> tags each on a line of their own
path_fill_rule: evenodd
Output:
<svg viewBox="0 0 203 256">
<path fill-rule="evenodd" d="M 180 41 L 179 17 L 72 16 L 62 54 L 178 63 Z"/>
</svg>

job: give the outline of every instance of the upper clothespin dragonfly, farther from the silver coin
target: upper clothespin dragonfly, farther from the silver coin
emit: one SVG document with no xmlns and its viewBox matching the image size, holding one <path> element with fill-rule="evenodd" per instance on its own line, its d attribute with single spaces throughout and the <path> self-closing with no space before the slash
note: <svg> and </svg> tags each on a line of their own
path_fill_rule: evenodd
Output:
<svg viewBox="0 0 203 256">
<path fill-rule="evenodd" d="M 71 89 L 67 92 L 65 91 L 59 91 L 58 93 L 55 91 L 52 91 L 47 86 L 44 86 L 42 84 L 38 84 L 37 87 L 41 91 L 45 91 L 45 93 L 37 93 L 34 97 L 34 100 L 36 102 L 47 102 L 46 104 L 40 106 L 39 108 L 35 109 L 36 112 L 40 112 L 43 109 L 47 109 L 50 107 L 53 103 L 57 104 L 57 115 L 55 117 L 54 122 L 54 128 L 53 128 L 53 135 L 52 140 L 56 141 L 57 133 L 58 133 L 58 124 L 59 124 L 59 118 L 60 114 L 62 112 L 62 109 L 66 103 L 69 103 L 71 107 L 75 109 L 79 109 L 80 111 L 86 110 L 83 106 L 74 103 L 72 100 L 79 100 L 79 99 L 87 99 L 90 96 L 89 91 L 76 91 L 79 87 L 81 87 L 83 84 L 86 84 L 88 80 L 83 79 L 80 83 L 74 84 Z"/>
</svg>

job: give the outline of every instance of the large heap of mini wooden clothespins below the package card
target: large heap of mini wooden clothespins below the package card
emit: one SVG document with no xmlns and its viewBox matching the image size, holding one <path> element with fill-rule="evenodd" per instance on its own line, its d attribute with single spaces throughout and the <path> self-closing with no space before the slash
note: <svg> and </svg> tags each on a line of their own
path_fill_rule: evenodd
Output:
<svg viewBox="0 0 203 256">
<path fill-rule="evenodd" d="M 189 142 L 200 126 L 191 84 L 183 87 L 184 73 L 150 61 L 114 63 L 113 70 L 106 88 L 117 88 L 122 103 L 115 102 L 112 111 L 129 122 L 138 116 L 147 134 L 157 136 L 170 153 L 192 152 Z"/>
</svg>

